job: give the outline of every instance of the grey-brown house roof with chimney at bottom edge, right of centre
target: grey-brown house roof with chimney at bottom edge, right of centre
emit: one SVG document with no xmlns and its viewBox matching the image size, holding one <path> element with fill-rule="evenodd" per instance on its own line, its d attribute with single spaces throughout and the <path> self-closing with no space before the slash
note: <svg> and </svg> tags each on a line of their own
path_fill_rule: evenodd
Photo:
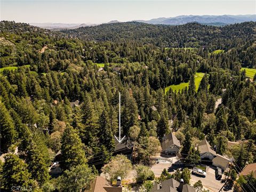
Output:
<svg viewBox="0 0 256 192">
<path fill-rule="evenodd" d="M 195 192 L 194 187 L 191 187 L 188 184 L 184 184 L 183 180 L 181 179 L 180 182 L 176 181 L 175 179 L 167 179 L 162 183 L 156 183 L 153 186 L 151 192 Z"/>
</svg>

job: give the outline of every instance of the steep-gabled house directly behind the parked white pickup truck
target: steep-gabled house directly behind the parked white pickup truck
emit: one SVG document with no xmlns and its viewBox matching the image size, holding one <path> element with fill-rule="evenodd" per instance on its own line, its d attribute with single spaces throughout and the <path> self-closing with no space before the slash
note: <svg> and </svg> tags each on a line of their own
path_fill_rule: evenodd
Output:
<svg viewBox="0 0 256 192">
<path fill-rule="evenodd" d="M 197 145 L 197 149 L 199 150 L 201 161 L 204 162 L 211 162 L 217 155 L 205 138 Z"/>
</svg>

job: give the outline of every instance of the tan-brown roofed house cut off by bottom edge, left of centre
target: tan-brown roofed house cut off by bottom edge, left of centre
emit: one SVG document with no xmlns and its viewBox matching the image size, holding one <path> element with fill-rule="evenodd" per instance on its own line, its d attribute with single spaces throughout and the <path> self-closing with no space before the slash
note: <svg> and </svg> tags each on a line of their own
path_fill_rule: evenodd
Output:
<svg viewBox="0 0 256 192">
<path fill-rule="evenodd" d="M 122 186 L 113 187 L 105 178 L 97 176 L 91 183 L 91 189 L 84 192 L 122 192 L 122 190 Z"/>
</svg>

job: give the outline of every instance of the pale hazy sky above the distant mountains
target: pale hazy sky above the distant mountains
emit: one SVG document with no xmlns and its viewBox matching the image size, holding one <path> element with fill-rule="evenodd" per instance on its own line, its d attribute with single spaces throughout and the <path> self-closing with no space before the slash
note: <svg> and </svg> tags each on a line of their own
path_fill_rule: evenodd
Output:
<svg viewBox="0 0 256 192">
<path fill-rule="evenodd" d="M 12 1 L 1 0 L 1 20 L 102 23 L 177 15 L 256 14 L 256 1 Z"/>
</svg>

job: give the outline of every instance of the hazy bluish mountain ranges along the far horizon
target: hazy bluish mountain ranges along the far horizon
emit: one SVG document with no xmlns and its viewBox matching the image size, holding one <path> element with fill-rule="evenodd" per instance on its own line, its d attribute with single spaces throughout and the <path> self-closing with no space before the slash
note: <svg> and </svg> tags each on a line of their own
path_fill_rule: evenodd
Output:
<svg viewBox="0 0 256 192">
<path fill-rule="evenodd" d="M 225 26 L 246 21 L 256 21 L 256 14 L 253 15 L 180 15 L 170 18 L 156 18 L 150 20 L 133 20 L 148 24 L 160 25 L 183 25 L 189 22 L 198 22 L 204 25 Z M 117 23 L 113 20 L 108 23 Z M 93 23 L 30 23 L 32 26 L 51 30 L 76 29 L 79 27 L 97 26 Z"/>
</svg>

